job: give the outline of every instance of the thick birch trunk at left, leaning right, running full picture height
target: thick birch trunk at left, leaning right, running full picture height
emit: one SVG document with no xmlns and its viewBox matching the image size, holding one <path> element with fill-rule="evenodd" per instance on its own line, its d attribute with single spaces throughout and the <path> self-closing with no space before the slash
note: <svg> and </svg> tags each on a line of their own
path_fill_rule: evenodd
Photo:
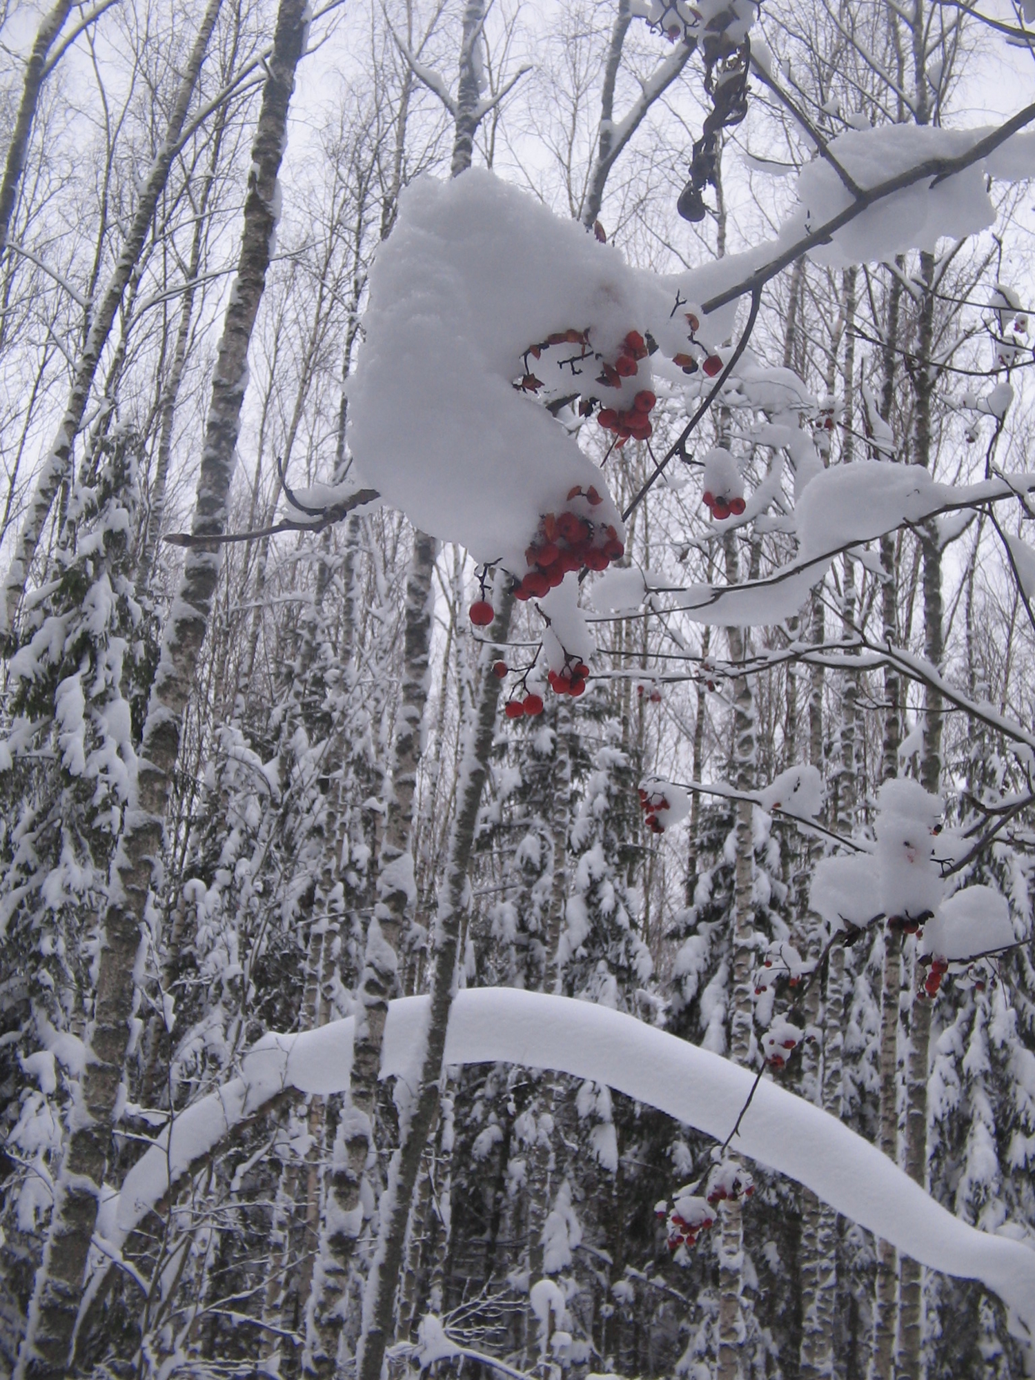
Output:
<svg viewBox="0 0 1035 1380">
<path fill-rule="evenodd" d="M 218 7 L 219 0 L 211 0 L 195 44 L 189 87 L 186 77 L 181 86 L 178 110 L 186 110 Z M 269 265 L 277 172 L 286 141 L 295 68 L 305 41 L 305 0 L 282 0 L 251 150 L 253 164 L 244 203 L 237 279 L 226 309 L 213 377 L 213 397 L 206 424 L 193 523 L 193 530 L 199 535 L 221 534 L 225 526 L 237 425 L 247 381 L 248 342 Z M 182 124 L 182 115 L 178 119 Z M 167 168 L 172 156 L 168 138 L 164 148 L 168 150 Z M 144 230 L 139 243 L 142 239 Z M 130 269 L 131 266 L 130 264 Z M 134 809 L 126 811 L 126 827 L 113 867 L 113 900 L 103 923 L 92 1024 L 87 1031 L 90 1058 L 83 1074 L 83 1107 L 87 1115 L 69 1137 L 55 1185 L 43 1265 L 34 1282 L 29 1311 L 29 1330 L 19 1352 L 19 1380 L 21 1377 L 58 1380 L 68 1370 L 115 1110 L 123 1083 L 128 1023 L 134 1009 L 134 967 L 146 925 L 145 912 L 153 868 L 161 858 L 164 814 L 179 749 L 182 715 L 218 574 L 218 548 L 215 552 L 199 548 L 188 552 L 178 598 L 166 628 L 161 662 L 144 729 L 137 800 Z"/>
</svg>

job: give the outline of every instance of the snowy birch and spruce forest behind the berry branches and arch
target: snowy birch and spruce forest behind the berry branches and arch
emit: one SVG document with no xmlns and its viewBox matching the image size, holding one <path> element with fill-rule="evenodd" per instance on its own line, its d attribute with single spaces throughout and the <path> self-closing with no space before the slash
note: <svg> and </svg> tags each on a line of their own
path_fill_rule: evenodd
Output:
<svg viewBox="0 0 1035 1380">
<path fill-rule="evenodd" d="M 696 269 L 771 240 L 839 135 L 1023 112 L 1028 11 L 0 14 L 4 1373 L 1027 1373 L 992 1289 L 765 1156 L 591 1078 L 443 1065 L 454 985 L 580 998 L 1032 1241 L 1035 552 L 1027 482 L 996 477 L 1035 468 L 1024 168 L 989 174 L 973 233 L 795 254 L 693 370 L 657 366 L 650 444 L 585 422 L 635 500 L 627 575 L 586 581 L 584 691 L 540 713 L 504 708 L 535 603 L 357 504 L 348 421 L 370 269 L 422 175 L 491 168 L 631 265 Z M 701 502 L 716 444 L 742 513 Z M 687 588 L 792 559 L 796 477 L 864 462 L 1000 487 L 842 542 L 789 615 L 694 615 Z M 938 887 L 1009 903 L 1009 943 L 944 980 L 908 908 L 821 868 L 879 857 L 900 778 Z M 686 822 L 656 832 L 638 787 L 678 782 Z M 379 1083 L 388 1003 L 426 992 L 422 1067 Z M 346 1017 L 344 1083 L 257 1063 Z"/>
</svg>

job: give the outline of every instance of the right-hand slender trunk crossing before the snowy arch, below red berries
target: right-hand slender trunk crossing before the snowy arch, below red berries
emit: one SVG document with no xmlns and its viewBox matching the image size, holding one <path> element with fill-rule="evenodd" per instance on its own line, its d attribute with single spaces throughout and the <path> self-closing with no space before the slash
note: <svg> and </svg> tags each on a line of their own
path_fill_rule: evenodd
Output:
<svg viewBox="0 0 1035 1380">
<path fill-rule="evenodd" d="M 410 1202 L 428 1133 L 439 1107 L 446 1028 L 455 991 L 460 922 L 500 701 L 501 682 L 491 673 L 491 665 L 504 654 L 513 609 L 513 595 L 509 591 L 504 592 L 505 585 L 509 585 L 509 577 L 498 577 L 495 604 L 500 611 L 482 649 L 476 698 L 464 726 L 457 813 L 450 831 L 446 876 L 435 920 L 435 969 L 421 1082 L 408 1115 L 403 1118 L 400 1145 L 392 1156 L 388 1187 L 381 1195 L 378 1242 L 363 1294 L 357 1380 L 381 1380 L 385 1347 L 392 1333 L 395 1292 L 403 1263 Z"/>
</svg>

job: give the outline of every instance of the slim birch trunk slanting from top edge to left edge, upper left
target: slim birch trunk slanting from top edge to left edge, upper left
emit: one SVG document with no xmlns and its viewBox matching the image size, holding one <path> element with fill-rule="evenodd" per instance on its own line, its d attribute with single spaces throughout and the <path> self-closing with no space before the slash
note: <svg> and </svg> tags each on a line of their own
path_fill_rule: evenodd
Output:
<svg viewBox="0 0 1035 1380">
<path fill-rule="evenodd" d="M 95 308 L 92 304 L 88 308 L 88 310 L 92 312 L 90 330 L 86 337 L 83 352 L 76 360 L 72 389 L 69 391 L 68 402 L 65 404 L 65 414 L 61 420 L 54 442 L 51 443 L 50 454 L 47 455 L 43 469 L 36 480 L 36 490 L 29 504 L 29 512 L 22 523 L 11 569 L 4 580 L 0 599 L 0 638 L 10 638 L 14 632 L 18 602 L 25 591 L 25 582 L 29 578 L 33 556 L 36 555 L 36 548 L 43 535 L 43 529 L 50 515 L 54 497 L 69 469 L 72 447 L 76 436 L 79 435 L 79 429 L 83 425 L 87 400 L 101 363 L 101 352 L 105 348 L 116 312 L 123 301 L 123 294 L 130 283 L 130 279 L 132 277 L 137 261 L 141 257 L 144 241 L 155 217 L 155 207 L 157 206 L 159 197 L 161 196 L 168 179 L 168 170 L 172 166 L 172 159 L 177 153 L 179 135 L 184 128 L 184 121 L 186 120 L 186 112 L 201 70 L 201 62 L 204 61 L 204 55 L 208 48 L 208 40 L 211 39 L 213 29 L 215 28 L 215 21 L 219 17 L 221 6 L 222 0 L 208 0 L 208 8 L 201 19 L 201 26 L 197 30 L 195 46 L 190 50 L 186 69 L 179 81 L 175 101 L 172 102 L 172 110 L 168 117 L 168 124 L 166 126 L 164 138 L 159 145 L 157 153 L 155 155 L 148 178 L 142 185 L 139 200 L 137 201 L 137 210 L 130 221 L 126 243 L 123 244 L 121 253 L 119 254 L 119 259 L 112 270 L 112 276 L 108 280 L 108 286 L 103 290 L 101 301 L 97 302 Z"/>
</svg>

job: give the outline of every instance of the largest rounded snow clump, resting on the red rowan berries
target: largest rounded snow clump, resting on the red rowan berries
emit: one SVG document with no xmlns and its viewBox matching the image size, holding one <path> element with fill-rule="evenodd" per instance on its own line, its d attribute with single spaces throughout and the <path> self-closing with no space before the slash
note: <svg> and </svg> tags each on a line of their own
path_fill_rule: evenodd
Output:
<svg viewBox="0 0 1035 1380">
<path fill-rule="evenodd" d="M 621 538 L 602 472 L 515 374 L 530 345 L 569 328 L 617 359 L 665 298 L 611 246 L 491 172 L 420 178 L 370 276 L 349 389 L 357 469 L 424 530 L 513 573 L 571 490 L 595 487 L 593 522 Z M 595 357 L 569 366 L 571 391 L 598 389 L 598 371 Z M 635 382 L 611 392 L 635 396 Z"/>
</svg>

